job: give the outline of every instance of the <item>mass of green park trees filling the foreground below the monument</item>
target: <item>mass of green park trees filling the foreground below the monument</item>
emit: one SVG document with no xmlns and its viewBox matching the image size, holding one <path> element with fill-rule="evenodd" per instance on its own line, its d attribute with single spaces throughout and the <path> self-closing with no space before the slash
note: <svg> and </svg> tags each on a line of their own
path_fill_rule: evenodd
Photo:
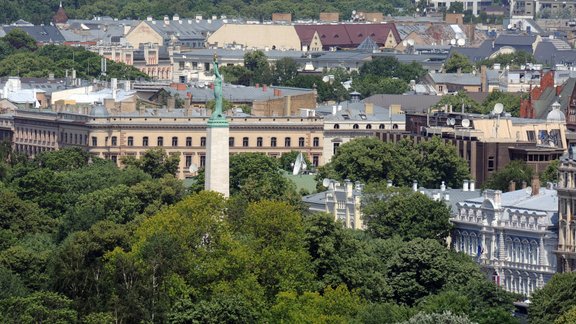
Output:
<svg viewBox="0 0 576 324">
<path fill-rule="evenodd" d="M 515 323 L 518 297 L 446 248 L 448 209 L 419 193 L 374 184 L 357 231 L 304 211 L 263 154 L 231 157 L 225 199 L 161 149 L 123 168 L 0 152 L 2 322 Z"/>
</svg>

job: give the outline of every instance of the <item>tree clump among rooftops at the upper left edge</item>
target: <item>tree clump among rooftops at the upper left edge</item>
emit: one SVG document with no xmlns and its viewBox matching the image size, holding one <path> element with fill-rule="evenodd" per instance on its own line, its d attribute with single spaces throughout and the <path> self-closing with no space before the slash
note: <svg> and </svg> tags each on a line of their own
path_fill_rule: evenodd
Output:
<svg viewBox="0 0 576 324">
<path fill-rule="evenodd" d="M 1 3 L 1 2 L 0 2 Z M 0 37 L 0 76 L 57 78 L 72 75 L 92 79 L 147 79 L 148 76 L 133 66 L 108 60 L 107 73 L 101 75 L 101 57 L 82 47 L 63 45 L 36 46 L 32 37 L 21 29 L 13 29 Z"/>
</svg>

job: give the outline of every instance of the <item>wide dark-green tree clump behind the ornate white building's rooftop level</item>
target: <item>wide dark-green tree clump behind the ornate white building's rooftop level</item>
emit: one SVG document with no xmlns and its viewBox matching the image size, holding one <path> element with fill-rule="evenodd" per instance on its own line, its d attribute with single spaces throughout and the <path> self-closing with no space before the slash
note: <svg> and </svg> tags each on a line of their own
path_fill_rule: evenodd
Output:
<svg viewBox="0 0 576 324">
<path fill-rule="evenodd" d="M 456 148 L 442 139 L 415 143 L 403 139 L 385 143 L 376 138 L 359 138 L 338 147 L 330 163 L 320 168 L 320 177 L 350 179 L 362 183 L 391 180 L 397 186 L 458 188 L 469 178 L 468 164 L 458 156 Z"/>
</svg>

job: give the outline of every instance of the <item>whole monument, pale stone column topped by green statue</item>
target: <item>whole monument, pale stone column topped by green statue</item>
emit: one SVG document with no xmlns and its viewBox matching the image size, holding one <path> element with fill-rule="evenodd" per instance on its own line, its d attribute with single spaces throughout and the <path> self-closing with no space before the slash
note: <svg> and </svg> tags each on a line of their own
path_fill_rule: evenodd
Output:
<svg viewBox="0 0 576 324">
<path fill-rule="evenodd" d="M 208 120 L 206 138 L 206 172 L 204 187 L 230 196 L 230 153 L 228 148 L 229 125 L 222 112 L 222 76 L 214 56 L 214 112 Z"/>
</svg>

